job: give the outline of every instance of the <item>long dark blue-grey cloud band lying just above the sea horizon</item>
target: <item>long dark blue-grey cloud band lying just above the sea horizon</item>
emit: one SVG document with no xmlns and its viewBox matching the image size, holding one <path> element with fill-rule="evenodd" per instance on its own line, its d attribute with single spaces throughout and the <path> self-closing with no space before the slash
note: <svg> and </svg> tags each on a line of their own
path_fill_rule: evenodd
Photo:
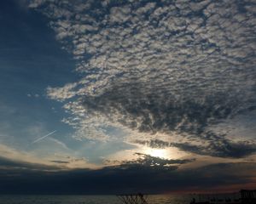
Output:
<svg viewBox="0 0 256 204">
<path fill-rule="evenodd" d="M 218 186 L 232 186 L 253 182 L 256 171 L 253 163 L 226 163 L 189 170 L 174 171 L 166 167 L 104 167 L 99 170 L 81 169 L 42 172 L 27 169 L 0 169 L 0 193 L 13 194 L 119 194 L 163 193 L 211 190 Z M 243 174 L 247 172 L 246 175 Z M 239 187 L 240 186 L 240 187 Z M 239 190 L 239 189 L 237 189 Z"/>
</svg>

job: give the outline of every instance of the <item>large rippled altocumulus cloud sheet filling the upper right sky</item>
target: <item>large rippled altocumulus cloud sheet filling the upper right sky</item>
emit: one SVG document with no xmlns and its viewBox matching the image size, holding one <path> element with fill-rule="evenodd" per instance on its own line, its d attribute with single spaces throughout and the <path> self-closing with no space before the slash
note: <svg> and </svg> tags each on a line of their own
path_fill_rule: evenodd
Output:
<svg viewBox="0 0 256 204">
<path fill-rule="evenodd" d="M 77 139 L 111 139 L 107 129 L 116 127 L 150 139 L 176 134 L 171 145 L 197 154 L 256 151 L 254 140 L 211 128 L 255 116 L 253 0 L 32 0 L 30 7 L 49 18 L 83 76 L 47 88 L 71 113 L 63 121 Z"/>
</svg>

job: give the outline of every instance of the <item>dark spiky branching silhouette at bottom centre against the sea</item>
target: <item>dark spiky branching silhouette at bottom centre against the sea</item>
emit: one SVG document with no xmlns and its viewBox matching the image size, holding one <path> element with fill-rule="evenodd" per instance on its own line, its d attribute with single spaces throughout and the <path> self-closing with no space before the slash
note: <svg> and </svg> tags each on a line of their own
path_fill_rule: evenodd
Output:
<svg viewBox="0 0 256 204">
<path fill-rule="evenodd" d="M 143 194 L 124 194 L 117 195 L 119 200 L 123 202 L 123 204 L 148 204 Z"/>
</svg>

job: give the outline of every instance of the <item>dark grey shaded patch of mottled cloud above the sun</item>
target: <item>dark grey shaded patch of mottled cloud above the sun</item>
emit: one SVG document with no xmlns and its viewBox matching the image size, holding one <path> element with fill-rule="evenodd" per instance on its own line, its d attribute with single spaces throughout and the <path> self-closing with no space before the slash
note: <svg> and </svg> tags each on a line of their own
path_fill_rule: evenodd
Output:
<svg viewBox="0 0 256 204">
<path fill-rule="evenodd" d="M 175 99 L 166 87 L 150 88 L 152 83 L 129 82 L 114 85 L 96 97 L 86 96 L 83 105 L 90 112 L 100 112 L 139 132 L 202 134 L 212 123 L 234 116 L 241 99 L 230 94 L 205 95 L 203 102 L 183 95 Z M 245 110 L 246 111 L 246 110 Z"/>
</svg>

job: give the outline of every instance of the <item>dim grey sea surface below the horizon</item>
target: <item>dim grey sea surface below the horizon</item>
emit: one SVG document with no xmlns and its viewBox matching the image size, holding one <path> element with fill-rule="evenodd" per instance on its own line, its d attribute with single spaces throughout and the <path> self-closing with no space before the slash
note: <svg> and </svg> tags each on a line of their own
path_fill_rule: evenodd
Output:
<svg viewBox="0 0 256 204">
<path fill-rule="evenodd" d="M 207 196 L 145 195 L 145 198 L 148 204 L 189 204 L 193 197 L 197 201 L 202 201 Z M 218 198 L 226 197 L 230 195 L 218 195 Z M 0 204 L 122 204 L 122 202 L 115 195 L 0 195 Z"/>
</svg>

